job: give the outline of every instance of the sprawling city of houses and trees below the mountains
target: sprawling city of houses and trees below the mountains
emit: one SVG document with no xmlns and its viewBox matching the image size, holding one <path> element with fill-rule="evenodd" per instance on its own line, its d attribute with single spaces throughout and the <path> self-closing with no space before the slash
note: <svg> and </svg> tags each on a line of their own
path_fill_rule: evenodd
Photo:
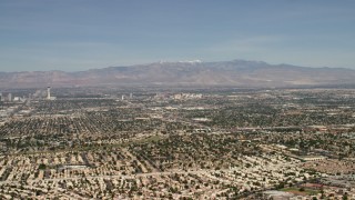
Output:
<svg viewBox="0 0 355 200">
<path fill-rule="evenodd" d="M 0 198 L 355 199 L 354 104 L 338 88 L 4 90 Z"/>
</svg>

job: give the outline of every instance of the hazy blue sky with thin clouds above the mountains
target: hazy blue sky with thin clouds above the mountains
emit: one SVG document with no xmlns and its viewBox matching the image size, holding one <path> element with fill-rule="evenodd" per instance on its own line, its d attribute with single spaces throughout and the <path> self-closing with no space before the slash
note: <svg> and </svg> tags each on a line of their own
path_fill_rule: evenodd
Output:
<svg viewBox="0 0 355 200">
<path fill-rule="evenodd" d="M 0 71 L 234 59 L 355 69 L 354 0 L 0 0 Z"/>
</svg>

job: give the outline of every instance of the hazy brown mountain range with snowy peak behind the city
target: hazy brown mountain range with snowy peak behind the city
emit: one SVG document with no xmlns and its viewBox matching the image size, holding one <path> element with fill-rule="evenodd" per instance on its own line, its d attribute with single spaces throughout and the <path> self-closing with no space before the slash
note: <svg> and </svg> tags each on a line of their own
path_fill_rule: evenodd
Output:
<svg viewBox="0 0 355 200">
<path fill-rule="evenodd" d="M 268 64 L 261 61 L 155 62 L 88 71 L 0 72 L 1 88 L 85 86 L 295 87 L 354 84 L 355 70 Z"/>
</svg>

